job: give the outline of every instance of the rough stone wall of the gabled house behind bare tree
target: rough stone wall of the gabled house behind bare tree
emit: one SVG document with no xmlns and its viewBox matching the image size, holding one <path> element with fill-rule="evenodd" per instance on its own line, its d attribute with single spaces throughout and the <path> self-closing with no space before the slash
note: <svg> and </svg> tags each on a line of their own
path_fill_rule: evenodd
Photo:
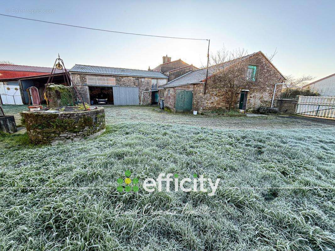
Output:
<svg viewBox="0 0 335 251">
<path fill-rule="evenodd" d="M 256 54 L 250 59 L 251 65 L 258 66 L 257 77 L 254 83 L 250 83 L 252 88 L 248 88 L 247 111 L 257 110 L 260 106 L 271 106 L 274 85 L 282 83 L 283 78 L 273 68 L 273 66 L 261 55 Z M 281 85 L 277 85 L 275 100 L 279 98 Z M 243 88 L 245 89 L 245 88 Z M 204 85 L 196 84 L 193 90 L 193 110 L 198 112 L 210 111 L 214 109 L 224 109 L 228 107 L 225 100 L 226 93 L 222 88 L 218 88 L 213 83 L 213 78 L 208 79 L 206 94 Z M 238 108 L 240 96 L 238 96 L 235 108 Z M 275 105 L 275 103 L 274 103 Z"/>
</svg>

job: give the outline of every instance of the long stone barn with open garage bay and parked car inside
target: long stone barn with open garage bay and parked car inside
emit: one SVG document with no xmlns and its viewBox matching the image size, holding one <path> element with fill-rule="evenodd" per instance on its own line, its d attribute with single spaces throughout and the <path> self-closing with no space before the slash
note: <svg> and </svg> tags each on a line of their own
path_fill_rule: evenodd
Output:
<svg viewBox="0 0 335 251">
<path fill-rule="evenodd" d="M 157 71 L 77 64 L 69 73 L 86 103 L 103 98 L 110 105 L 158 104 L 158 87 L 168 79 Z"/>
</svg>

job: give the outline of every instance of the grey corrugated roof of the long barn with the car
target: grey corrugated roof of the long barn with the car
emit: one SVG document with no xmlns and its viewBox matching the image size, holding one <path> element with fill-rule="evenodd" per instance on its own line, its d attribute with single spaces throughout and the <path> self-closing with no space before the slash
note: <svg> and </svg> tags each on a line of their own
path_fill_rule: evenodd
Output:
<svg viewBox="0 0 335 251">
<path fill-rule="evenodd" d="M 148 77 L 148 78 L 167 78 L 167 76 L 165 76 L 163 73 L 156 71 L 133 70 L 126 68 L 92 66 L 92 65 L 75 65 L 70 69 L 70 72 Z"/>
</svg>

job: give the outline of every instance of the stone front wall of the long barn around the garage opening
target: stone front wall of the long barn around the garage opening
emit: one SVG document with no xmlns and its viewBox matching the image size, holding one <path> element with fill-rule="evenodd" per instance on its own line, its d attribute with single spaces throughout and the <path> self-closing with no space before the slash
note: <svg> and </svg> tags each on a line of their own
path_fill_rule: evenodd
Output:
<svg viewBox="0 0 335 251">
<path fill-rule="evenodd" d="M 78 73 L 71 73 L 72 81 L 76 84 L 78 92 L 80 95 L 84 96 L 85 102 L 88 100 L 89 103 L 89 89 L 87 84 L 87 76 L 98 76 L 98 77 L 107 77 L 107 78 L 115 78 L 115 86 L 126 86 L 126 87 L 139 87 L 139 102 L 141 103 L 142 92 L 143 91 L 150 91 L 151 90 L 151 79 L 154 78 L 141 78 L 141 77 L 126 77 L 126 76 L 111 76 L 111 75 L 89 75 L 89 74 L 78 74 Z M 139 84 L 137 84 L 136 80 L 139 80 Z M 161 85 L 165 84 L 167 80 L 160 80 L 157 79 Z M 162 83 L 164 82 L 164 83 Z M 110 87 L 113 87 L 111 85 Z M 108 85 L 104 87 L 109 87 Z M 143 93 L 143 105 L 150 105 L 151 104 L 151 93 L 144 92 Z"/>
</svg>

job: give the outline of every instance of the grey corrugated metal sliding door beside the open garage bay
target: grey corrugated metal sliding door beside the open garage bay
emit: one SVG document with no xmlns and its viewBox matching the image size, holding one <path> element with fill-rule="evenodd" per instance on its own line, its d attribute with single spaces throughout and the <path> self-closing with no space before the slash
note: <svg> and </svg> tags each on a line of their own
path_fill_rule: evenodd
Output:
<svg viewBox="0 0 335 251">
<path fill-rule="evenodd" d="M 113 86 L 114 105 L 138 105 L 138 87 Z"/>
</svg>

